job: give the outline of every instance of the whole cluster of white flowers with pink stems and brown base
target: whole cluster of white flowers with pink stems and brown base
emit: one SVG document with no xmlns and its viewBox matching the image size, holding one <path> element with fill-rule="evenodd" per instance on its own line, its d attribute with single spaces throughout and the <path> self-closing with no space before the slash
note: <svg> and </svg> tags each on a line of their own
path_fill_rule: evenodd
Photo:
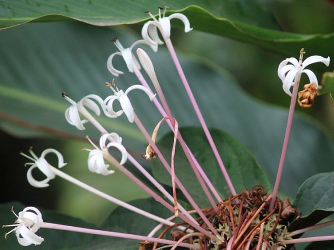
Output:
<svg viewBox="0 0 334 250">
<path fill-rule="evenodd" d="M 47 187 L 49 186 L 49 181 L 58 175 L 89 192 L 93 192 L 100 197 L 118 204 L 119 206 L 153 219 L 157 221 L 159 225 L 157 228 L 153 229 L 148 236 L 113 231 L 83 229 L 70 227 L 67 225 L 45 223 L 42 221 L 41 213 L 38 209 L 28 207 L 20 212 L 19 215 L 14 213 L 17 217 L 15 224 L 5 226 L 15 227 L 8 233 L 15 232 L 21 245 L 39 245 L 43 241 L 43 238 L 37 236 L 35 233 L 40 227 L 137 239 L 142 241 L 140 243 L 141 250 L 157 249 L 157 247 L 164 248 L 168 246 L 172 247 L 172 250 L 176 249 L 178 246 L 200 250 L 266 250 L 285 249 L 288 244 L 295 243 L 295 239 L 293 238 L 295 234 L 294 232 L 288 232 L 288 226 L 293 219 L 299 218 L 300 213 L 292 208 L 288 200 L 281 201 L 278 199 L 277 191 L 279 187 L 280 176 L 283 170 L 285 152 L 288 145 L 301 74 L 307 74 L 311 85 L 305 85 L 306 87 L 304 87 L 303 92 L 298 94 L 298 101 L 304 106 L 310 106 L 312 105 L 314 97 L 316 96 L 314 91 L 317 89 L 318 81 L 314 73 L 308 69 L 305 69 L 305 67 L 315 62 L 322 62 L 328 66 L 330 58 L 312 56 L 303 61 L 304 51 L 301 50 L 299 60 L 296 58 L 287 58 L 279 64 L 278 77 L 282 80 L 284 92 L 292 96 L 292 99 L 274 192 L 272 194 L 268 194 L 260 185 L 258 185 L 255 186 L 252 191 L 244 190 L 241 193 L 237 193 L 226 171 L 221 156 L 218 154 L 216 144 L 210 134 L 210 131 L 208 130 L 203 116 L 200 113 L 195 97 L 189 87 L 170 39 L 171 19 L 181 20 L 184 24 L 185 32 L 192 30 L 190 27 L 190 22 L 183 14 L 175 13 L 167 17 L 166 9 L 163 9 L 163 13 L 161 13 L 161 11 L 162 9 L 159 8 L 158 19 L 149 13 L 153 20 L 144 24 L 141 31 L 143 39 L 134 42 L 129 48 L 124 48 L 119 42 L 118 38 L 113 39 L 119 52 L 113 53 L 108 58 L 108 70 L 116 77 L 118 77 L 120 74 L 124 74 L 124 72 L 117 70 L 113 66 L 114 57 L 119 55 L 124 59 L 128 71 L 138 77 L 140 84 L 132 85 L 127 90 L 123 91 L 118 89 L 115 81 L 112 83 L 107 82 L 106 85 L 111 89 L 113 94 L 105 97 L 104 99 L 93 94 L 83 97 L 81 100 L 79 100 L 79 102 L 75 102 L 65 93 L 63 93 L 63 97 L 71 104 L 71 106 L 65 111 L 65 118 L 69 124 L 77 127 L 79 130 L 85 130 L 84 124 L 90 122 L 101 133 L 99 147 L 96 146 L 87 136 L 87 139 L 94 147 L 94 149 L 86 149 L 86 151 L 89 151 L 87 160 L 89 171 L 102 175 L 109 175 L 114 173 L 114 170 L 109 169 L 110 164 L 113 165 L 132 181 L 134 181 L 141 189 L 151 195 L 157 202 L 162 204 L 166 210 L 173 212 L 174 215 L 169 218 L 162 218 L 152 213 L 140 210 L 110 195 L 100 192 L 72 176 L 61 172 L 59 168 L 64 167 L 66 163 L 64 163 L 62 155 L 54 149 L 47 149 L 43 151 L 40 157 L 34 154 L 30 149 L 29 152 L 32 157 L 23 153 L 21 154 L 33 161 L 33 163 L 27 163 L 26 165 L 31 165 L 27 172 L 27 179 L 28 182 L 34 187 Z M 160 32 L 163 41 L 159 38 L 158 31 Z M 178 130 L 177 120 L 173 116 L 168 102 L 163 95 L 163 91 L 155 74 L 151 59 L 141 48 L 137 49 L 138 59 L 133 53 L 133 49 L 142 44 L 148 45 L 155 52 L 157 52 L 158 45 L 166 44 L 171 54 L 171 58 L 175 63 L 175 67 L 177 68 L 180 79 L 194 107 L 198 120 L 215 155 L 216 161 L 221 169 L 222 175 L 225 177 L 228 188 L 231 192 L 231 196 L 229 198 L 224 200 L 222 199 L 221 195 L 216 190 L 196 160 L 196 157 L 191 152 L 186 142 L 183 140 L 183 137 Z M 152 81 L 161 103 L 157 100 L 157 98 L 155 98 L 156 94 L 153 94 L 153 91 L 150 89 L 146 80 L 142 76 L 140 72 L 141 68 L 144 69 Z M 292 86 L 294 86 L 293 93 L 290 92 L 290 88 Z M 156 105 L 157 111 L 160 112 L 162 116 L 162 119 L 157 123 L 157 127 L 152 136 L 149 135 L 144 125 L 141 123 L 139 117 L 135 113 L 133 105 L 131 104 L 128 94 L 134 89 L 143 91 L 153 102 L 153 104 Z M 120 110 L 116 110 L 114 106 L 116 100 L 119 102 L 121 108 Z M 91 115 L 89 111 L 93 112 L 95 115 Z M 98 122 L 98 119 L 95 116 L 99 116 L 101 114 L 104 114 L 105 116 L 113 119 L 125 114 L 130 123 L 135 123 L 138 126 L 138 129 L 142 132 L 148 142 L 146 154 L 143 154 L 143 157 L 147 160 L 157 158 L 157 160 L 161 161 L 162 165 L 171 175 L 173 194 L 167 192 L 166 189 L 160 183 L 158 183 L 157 180 L 149 172 L 147 172 L 143 166 L 141 166 L 136 158 L 126 150 L 126 148 L 122 145 L 122 138 L 117 133 L 107 131 Z M 159 129 L 162 122 L 166 122 L 171 131 L 174 133 L 174 143 L 172 154 L 170 155 L 170 161 L 168 161 L 165 158 L 165 155 L 160 152 L 156 144 L 157 130 Z M 181 181 L 177 178 L 174 169 L 174 156 L 177 141 L 186 155 L 187 160 L 189 161 L 189 164 L 192 167 L 198 180 L 198 183 L 201 185 L 208 201 L 210 202 L 211 208 L 200 208 L 187 189 L 183 186 Z M 112 155 L 110 151 L 111 148 L 117 149 L 119 151 L 121 155 L 120 160 L 117 160 Z M 45 159 L 45 156 L 49 153 L 56 154 L 58 157 L 58 168 L 53 167 Z M 109 164 L 106 164 L 105 161 L 109 162 Z M 140 171 L 148 179 L 148 181 L 151 182 L 156 190 L 161 192 L 161 194 L 158 194 L 155 190 L 147 186 L 133 173 L 131 173 L 124 166 L 127 161 L 131 162 L 138 169 L 138 171 Z M 35 168 L 38 168 L 46 176 L 44 180 L 37 181 L 35 178 L 33 178 L 32 170 Z M 183 196 L 192 206 L 192 210 L 186 210 L 182 204 L 178 202 L 176 187 L 180 192 L 182 192 Z M 175 223 L 174 220 L 176 217 L 179 217 L 182 220 L 182 223 Z M 159 236 L 154 237 L 157 231 L 160 230 L 163 226 L 166 226 L 166 229 L 163 230 L 163 233 L 160 233 Z M 170 239 L 166 239 L 168 237 L 164 237 L 164 233 L 168 229 L 174 230 L 171 233 Z"/>
</svg>

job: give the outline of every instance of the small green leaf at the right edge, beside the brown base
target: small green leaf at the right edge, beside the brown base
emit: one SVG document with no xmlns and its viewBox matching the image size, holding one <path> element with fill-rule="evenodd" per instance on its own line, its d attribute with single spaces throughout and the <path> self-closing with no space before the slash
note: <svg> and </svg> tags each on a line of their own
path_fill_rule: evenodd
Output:
<svg viewBox="0 0 334 250">
<path fill-rule="evenodd" d="M 302 212 L 302 217 L 316 210 L 334 212 L 334 172 L 308 178 L 298 190 L 294 207 Z"/>
</svg>

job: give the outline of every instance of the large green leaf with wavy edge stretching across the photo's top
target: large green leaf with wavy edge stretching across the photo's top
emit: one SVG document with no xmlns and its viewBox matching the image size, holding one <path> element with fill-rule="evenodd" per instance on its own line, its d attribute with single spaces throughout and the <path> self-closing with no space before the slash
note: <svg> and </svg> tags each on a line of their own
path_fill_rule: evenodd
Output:
<svg viewBox="0 0 334 250">
<path fill-rule="evenodd" d="M 157 6 L 164 5 L 164 1 L 151 0 L 12 0 L 0 4 L 0 27 L 32 20 L 69 19 L 98 26 L 131 24 L 147 20 L 145 11 L 155 13 Z M 334 52 L 329 49 L 330 44 L 334 43 L 334 33 L 301 35 L 278 31 L 274 17 L 252 1 L 173 0 L 168 2 L 168 6 L 171 11 L 185 14 L 196 30 L 252 43 L 289 57 L 304 47 L 306 51 L 334 58 Z"/>
</svg>

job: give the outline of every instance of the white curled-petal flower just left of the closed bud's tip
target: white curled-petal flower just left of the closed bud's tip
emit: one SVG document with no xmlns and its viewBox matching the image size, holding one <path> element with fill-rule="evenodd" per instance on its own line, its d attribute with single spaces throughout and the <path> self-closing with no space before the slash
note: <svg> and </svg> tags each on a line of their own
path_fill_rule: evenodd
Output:
<svg viewBox="0 0 334 250">
<path fill-rule="evenodd" d="M 134 72 L 134 65 L 136 65 L 136 67 L 138 69 L 140 69 L 140 65 L 138 63 L 138 60 L 135 57 L 135 55 L 132 53 L 132 50 L 135 46 L 137 46 L 138 44 L 143 43 L 143 44 L 149 45 L 154 52 L 157 52 L 157 44 L 150 43 L 146 40 L 138 40 L 138 41 L 134 42 L 130 46 L 130 48 L 125 48 L 125 49 L 123 48 L 122 44 L 118 41 L 117 38 L 114 38 L 113 42 L 115 43 L 119 52 L 115 52 L 115 53 L 110 55 L 110 57 L 107 60 L 107 67 L 108 67 L 108 70 L 110 71 L 110 73 L 113 74 L 116 77 L 118 77 L 120 74 L 124 74 L 124 72 L 115 69 L 115 67 L 113 66 L 114 56 L 116 56 L 116 55 L 122 56 L 125 63 L 126 63 L 126 66 L 128 67 L 129 72 L 133 73 Z"/>
</svg>

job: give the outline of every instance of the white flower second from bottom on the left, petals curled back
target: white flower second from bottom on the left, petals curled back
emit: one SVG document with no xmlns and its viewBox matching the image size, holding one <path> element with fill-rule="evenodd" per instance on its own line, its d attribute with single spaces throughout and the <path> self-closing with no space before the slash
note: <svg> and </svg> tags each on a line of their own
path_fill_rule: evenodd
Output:
<svg viewBox="0 0 334 250">
<path fill-rule="evenodd" d="M 30 157 L 29 155 L 20 153 L 21 155 L 25 156 L 26 158 L 33 161 L 33 163 L 26 163 L 25 165 L 31 165 L 31 167 L 27 171 L 27 179 L 30 185 L 32 185 L 35 188 L 45 188 L 48 187 L 48 182 L 56 177 L 56 174 L 52 171 L 51 165 L 46 161 L 45 155 L 49 153 L 54 153 L 58 157 L 58 168 L 64 167 L 67 163 L 64 163 L 64 158 L 62 155 L 55 149 L 46 149 L 42 152 L 40 157 L 37 157 L 37 155 L 32 151 L 32 149 L 29 149 L 29 153 L 33 156 Z M 46 176 L 44 180 L 38 181 L 36 180 L 33 175 L 32 171 L 34 168 L 39 168 L 39 170 Z"/>
</svg>

